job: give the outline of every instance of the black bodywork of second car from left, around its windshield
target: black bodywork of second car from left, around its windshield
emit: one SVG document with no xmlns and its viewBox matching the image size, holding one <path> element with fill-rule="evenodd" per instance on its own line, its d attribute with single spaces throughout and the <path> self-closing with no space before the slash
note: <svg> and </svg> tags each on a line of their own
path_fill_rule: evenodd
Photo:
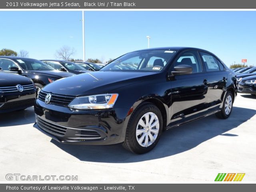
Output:
<svg viewBox="0 0 256 192">
<path fill-rule="evenodd" d="M 26 76 L 26 77 L 32 79 L 34 83 L 41 84 L 42 86 L 46 86 L 47 84 L 50 83 L 48 78 L 54 78 L 54 79 L 58 80 L 58 79 L 61 79 L 64 77 L 69 77 L 69 76 L 74 75 L 74 74 L 71 74 L 68 72 L 61 72 L 58 70 L 42 70 L 42 71 L 40 71 L 40 70 L 24 70 L 20 66 L 20 64 L 17 62 L 18 59 L 22 59 L 22 58 L 12 57 L 12 56 L 0 56 L 0 59 L 1 58 L 11 60 L 19 68 L 18 72 L 10 71 L 10 70 L 6 70 L 4 72 L 11 73 L 11 74 L 20 74 L 22 76 Z M 26 58 L 26 59 L 29 59 L 29 58 Z"/>
</svg>

